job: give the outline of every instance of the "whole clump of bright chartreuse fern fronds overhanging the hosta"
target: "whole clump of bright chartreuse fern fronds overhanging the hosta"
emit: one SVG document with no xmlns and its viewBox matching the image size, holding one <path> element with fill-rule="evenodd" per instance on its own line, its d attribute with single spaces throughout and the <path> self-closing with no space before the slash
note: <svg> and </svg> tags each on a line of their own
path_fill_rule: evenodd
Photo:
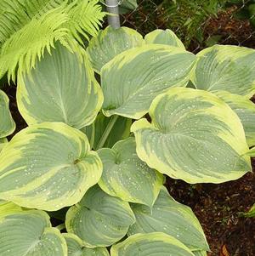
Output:
<svg viewBox="0 0 255 256">
<path fill-rule="evenodd" d="M 98 0 L 2 0 L 0 78 L 28 72 L 59 41 L 79 51 L 82 39 L 99 31 L 105 16 Z M 2 3 L 1 3 L 2 4 Z"/>
</svg>

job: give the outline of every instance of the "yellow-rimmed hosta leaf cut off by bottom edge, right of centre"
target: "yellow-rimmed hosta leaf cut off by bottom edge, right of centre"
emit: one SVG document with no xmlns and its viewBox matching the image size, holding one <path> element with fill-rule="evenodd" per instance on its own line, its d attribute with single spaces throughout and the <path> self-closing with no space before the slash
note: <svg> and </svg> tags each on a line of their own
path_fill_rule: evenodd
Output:
<svg viewBox="0 0 255 256">
<path fill-rule="evenodd" d="M 111 247 L 111 256 L 194 256 L 188 247 L 173 236 L 154 232 L 136 234 Z"/>
</svg>

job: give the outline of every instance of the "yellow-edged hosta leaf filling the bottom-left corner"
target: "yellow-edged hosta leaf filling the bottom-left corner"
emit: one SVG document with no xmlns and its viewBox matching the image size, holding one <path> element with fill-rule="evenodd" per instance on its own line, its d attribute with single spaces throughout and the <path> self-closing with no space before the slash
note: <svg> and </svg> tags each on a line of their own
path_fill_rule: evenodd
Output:
<svg viewBox="0 0 255 256">
<path fill-rule="evenodd" d="M 0 233 L 0 255 L 67 256 L 65 239 L 51 227 L 45 212 L 13 211 L 0 215 Z"/>
</svg>

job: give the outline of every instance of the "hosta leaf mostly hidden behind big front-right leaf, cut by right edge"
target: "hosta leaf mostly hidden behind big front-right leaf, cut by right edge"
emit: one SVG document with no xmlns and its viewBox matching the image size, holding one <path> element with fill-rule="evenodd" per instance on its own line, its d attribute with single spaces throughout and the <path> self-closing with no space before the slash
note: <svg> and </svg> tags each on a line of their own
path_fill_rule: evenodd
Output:
<svg viewBox="0 0 255 256">
<path fill-rule="evenodd" d="M 246 134 L 247 144 L 255 145 L 255 104 L 237 94 L 219 91 L 218 97 L 224 100 L 240 118 Z"/>
</svg>

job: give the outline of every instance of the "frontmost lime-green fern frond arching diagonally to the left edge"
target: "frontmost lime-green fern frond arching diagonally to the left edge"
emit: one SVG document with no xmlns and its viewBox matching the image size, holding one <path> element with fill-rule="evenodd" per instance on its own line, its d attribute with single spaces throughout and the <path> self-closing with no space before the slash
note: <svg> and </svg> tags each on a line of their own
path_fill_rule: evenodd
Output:
<svg viewBox="0 0 255 256">
<path fill-rule="evenodd" d="M 6 71 L 8 80 L 15 78 L 17 65 L 20 71 L 29 71 L 37 58 L 41 58 L 45 48 L 50 51 L 54 41 L 65 41 L 68 30 L 63 27 L 68 16 L 63 9 L 53 9 L 43 14 L 40 19 L 32 19 L 20 31 L 3 44 L 0 57 L 0 77 Z"/>
</svg>

